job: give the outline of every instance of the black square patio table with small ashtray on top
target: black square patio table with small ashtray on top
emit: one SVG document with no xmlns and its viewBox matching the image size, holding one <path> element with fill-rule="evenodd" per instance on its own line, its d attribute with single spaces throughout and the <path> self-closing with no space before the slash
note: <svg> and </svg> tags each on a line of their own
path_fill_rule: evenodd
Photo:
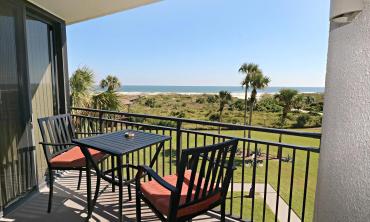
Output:
<svg viewBox="0 0 370 222">
<path fill-rule="evenodd" d="M 125 133 L 133 133 L 134 136 L 125 137 Z M 152 134 L 152 133 L 136 131 L 136 130 L 123 130 L 123 131 L 118 131 L 118 132 L 113 132 L 113 133 L 92 136 L 88 138 L 73 139 L 72 142 L 80 146 L 81 151 L 86 157 L 87 208 L 88 208 L 87 220 L 91 217 L 92 211 L 94 209 L 94 205 L 96 203 L 96 200 L 99 194 L 100 179 L 103 178 L 109 183 L 112 183 L 112 186 L 115 186 L 115 185 L 118 186 L 118 189 L 119 189 L 119 206 L 118 206 L 119 207 L 119 221 L 122 221 L 123 185 L 128 186 L 129 199 L 131 200 L 130 183 L 133 181 L 130 181 L 130 176 L 129 176 L 130 169 L 129 168 L 130 167 L 136 168 L 136 166 L 134 166 L 133 164 L 129 164 L 127 162 L 128 158 L 126 161 L 127 163 L 123 164 L 122 157 L 124 155 L 138 151 L 145 147 L 148 147 L 151 145 L 157 145 L 156 152 L 150 161 L 150 167 L 153 167 L 161 149 L 164 147 L 164 143 L 170 139 L 171 137 L 169 136 Z M 101 169 L 96 164 L 96 162 L 93 160 L 92 156 L 90 155 L 88 148 L 93 148 L 93 149 L 102 151 L 106 154 L 110 154 L 112 158 L 116 157 L 117 167 L 114 168 L 114 166 L 112 166 L 113 167 L 112 169 L 102 172 Z M 95 169 L 96 175 L 97 175 L 97 184 L 96 184 L 95 196 L 94 196 L 93 201 L 91 201 L 91 172 L 90 172 L 91 167 Z M 126 170 L 127 170 L 126 171 L 127 178 L 126 178 L 125 183 L 123 182 L 123 178 L 122 178 L 122 168 L 123 167 L 126 167 Z M 118 174 L 117 178 L 114 176 L 114 171 L 117 171 L 117 174 Z M 112 176 L 111 177 L 107 176 L 108 173 L 111 173 Z"/>
</svg>

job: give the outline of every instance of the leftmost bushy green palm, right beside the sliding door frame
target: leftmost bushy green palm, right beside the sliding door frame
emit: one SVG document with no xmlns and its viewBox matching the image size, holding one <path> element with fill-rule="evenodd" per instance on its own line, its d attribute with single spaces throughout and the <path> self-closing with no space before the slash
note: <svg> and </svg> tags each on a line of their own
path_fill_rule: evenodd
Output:
<svg viewBox="0 0 370 222">
<path fill-rule="evenodd" d="M 88 67 L 78 68 L 71 76 L 71 102 L 75 107 L 87 107 L 90 102 L 91 88 L 94 84 L 94 72 Z"/>
</svg>

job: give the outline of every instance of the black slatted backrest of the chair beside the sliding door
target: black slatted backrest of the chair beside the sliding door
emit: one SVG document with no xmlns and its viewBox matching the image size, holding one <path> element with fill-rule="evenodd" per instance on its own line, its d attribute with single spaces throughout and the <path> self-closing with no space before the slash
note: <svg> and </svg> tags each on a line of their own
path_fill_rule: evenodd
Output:
<svg viewBox="0 0 370 222">
<path fill-rule="evenodd" d="M 70 114 L 43 117 L 39 118 L 37 121 L 39 123 L 43 142 L 60 144 L 43 145 L 47 160 L 50 160 L 71 147 L 72 139 L 75 138 L 75 129 Z"/>
</svg>

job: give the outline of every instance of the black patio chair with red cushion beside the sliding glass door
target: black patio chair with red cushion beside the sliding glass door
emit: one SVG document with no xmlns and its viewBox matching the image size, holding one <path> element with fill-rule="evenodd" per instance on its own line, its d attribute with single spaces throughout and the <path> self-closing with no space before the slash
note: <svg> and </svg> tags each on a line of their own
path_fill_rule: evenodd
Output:
<svg viewBox="0 0 370 222">
<path fill-rule="evenodd" d="M 79 190 L 82 171 L 85 170 L 86 161 L 80 147 L 71 142 L 76 135 L 70 114 L 39 118 L 37 121 L 43 140 L 40 144 L 43 147 L 48 165 L 48 182 L 50 187 L 48 213 L 50 213 L 53 198 L 53 171 L 78 170 L 77 190 Z M 89 149 L 89 151 L 97 163 L 104 160 L 107 156 L 94 149 Z"/>
</svg>

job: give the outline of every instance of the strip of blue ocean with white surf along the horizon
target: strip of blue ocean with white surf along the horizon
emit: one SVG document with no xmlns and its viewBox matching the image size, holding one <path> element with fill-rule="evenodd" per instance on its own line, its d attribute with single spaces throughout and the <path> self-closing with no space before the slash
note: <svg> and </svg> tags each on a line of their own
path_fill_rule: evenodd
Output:
<svg viewBox="0 0 370 222">
<path fill-rule="evenodd" d="M 259 90 L 258 93 L 277 93 L 281 88 L 296 89 L 300 93 L 323 93 L 324 87 L 267 87 Z M 124 85 L 118 91 L 123 93 L 181 93 L 181 94 L 201 94 L 218 93 L 221 90 L 229 91 L 233 94 L 244 93 L 241 86 L 150 86 L 150 85 Z"/>
</svg>

